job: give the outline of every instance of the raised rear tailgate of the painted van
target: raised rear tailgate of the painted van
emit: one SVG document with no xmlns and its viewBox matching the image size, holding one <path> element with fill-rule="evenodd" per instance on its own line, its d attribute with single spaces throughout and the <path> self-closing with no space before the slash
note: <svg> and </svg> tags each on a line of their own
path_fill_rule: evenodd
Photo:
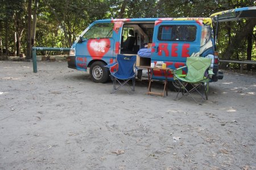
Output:
<svg viewBox="0 0 256 170">
<path fill-rule="evenodd" d="M 242 18 L 256 18 L 256 6 L 216 12 L 210 15 L 210 17 L 213 19 L 213 22 L 229 22 Z"/>
</svg>

